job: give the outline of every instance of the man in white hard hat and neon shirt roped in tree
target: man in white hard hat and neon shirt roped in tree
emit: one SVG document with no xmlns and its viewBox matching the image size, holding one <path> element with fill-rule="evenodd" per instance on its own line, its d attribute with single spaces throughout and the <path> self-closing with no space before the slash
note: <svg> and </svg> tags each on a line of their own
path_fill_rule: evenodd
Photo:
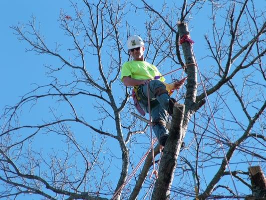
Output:
<svg viewBox="0 0 266 200">
<path fill-rule="evenodd" d="M 144 42 L 137 35 L 127 40 L 128 52 L 132 60 L 125 62 L 121 70 L 121 80 L 126 86 L 134 86 L 140 106 L 149 112 L 148 98 L 150 99 L 152 129 L 161 145 L 165 145 L 169 131 L 166 127 L 167 112 L 173 113 L 175 99 L 168 94 L 173 88 L 180 88 L 182 82 L 165 83 L 165 78 L 157 67 L 144 60 Z M 155 76 L 159 79 L 154 79 Z M 149 91 L 148 91 L 149 88 Z"/>
</svg>

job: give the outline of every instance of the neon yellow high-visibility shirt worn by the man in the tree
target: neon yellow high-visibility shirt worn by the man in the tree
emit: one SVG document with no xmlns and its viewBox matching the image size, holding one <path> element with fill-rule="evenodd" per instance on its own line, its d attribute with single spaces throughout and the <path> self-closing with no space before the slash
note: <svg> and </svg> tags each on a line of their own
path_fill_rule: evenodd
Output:
<svg viewBox="0 0 266 200">
<path fill-rule="evenodd" d="M 162 75 L 157 67 L 146 61 L 131 60 L 125 62 L 121 69 L 121 80 L 124 76 L 130 76 L 137 80 L 153 79 L 154 76 Z M 165 81 L 164 77 L 160 77 L 162 82 Z"/>
</svg>

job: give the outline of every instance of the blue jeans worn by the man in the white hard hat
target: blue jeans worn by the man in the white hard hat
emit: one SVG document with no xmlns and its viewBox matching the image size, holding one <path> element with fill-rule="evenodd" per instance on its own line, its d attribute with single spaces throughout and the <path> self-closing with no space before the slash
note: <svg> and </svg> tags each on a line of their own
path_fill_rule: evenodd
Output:
<svg viewBox="0 0 266 200">
<path fill-rule="evenodd" d="M 138 88 L 138 95 L 140 97 L 139 104 L 140 106 L 149 113 L 149 105 L 148 105 L 148 86 L 149 86 L 149 98 L 151 105 L 151 116 L 153 121 L 163 120 L 166 122 L 167 119 L 167 109 L 169 106 L 170 96 L 168 93 L 162 93 L 161 95 L 155 96 L 155 89 L 158 87 L 165 88 L 165 85 L 160 80 L 151 80 L 149 84 L 140 85 Z M 166 126 L 161 124 L 155 124 L 152 127 L 156 137 L 160 138 L 160 136 L 169 134 Z"/>
</svg>

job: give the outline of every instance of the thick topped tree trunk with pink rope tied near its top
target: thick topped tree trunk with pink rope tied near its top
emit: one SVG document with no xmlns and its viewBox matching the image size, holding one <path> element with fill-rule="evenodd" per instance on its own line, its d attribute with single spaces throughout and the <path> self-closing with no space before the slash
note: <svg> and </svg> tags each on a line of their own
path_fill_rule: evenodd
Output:
<svg viewBox="0 0 266 200">
<path fill-rule="evenodd" d="M 188 25 L 186 23 L 178 23 L 178 34 L 181 36 L 189 35 Z M 179 46 L 177 46 L 177 48 L 179 48 Z M 182 49 L 185 63 L 188 66 L 185 69 L 188 75 L 185 105 L 176 103 L 174 106 L 170 134 L 166 141 L 159 168 L 159 178 L 155 183 L 152 193 L 153 200 L 169 198 L 177 158 L 188 128 L 189 120 L 191 115 L 204 103 L 195 102 L 197 96 L 197 67 L 192 44 L 190 42 L 183 42 Z"/>
</svg>

